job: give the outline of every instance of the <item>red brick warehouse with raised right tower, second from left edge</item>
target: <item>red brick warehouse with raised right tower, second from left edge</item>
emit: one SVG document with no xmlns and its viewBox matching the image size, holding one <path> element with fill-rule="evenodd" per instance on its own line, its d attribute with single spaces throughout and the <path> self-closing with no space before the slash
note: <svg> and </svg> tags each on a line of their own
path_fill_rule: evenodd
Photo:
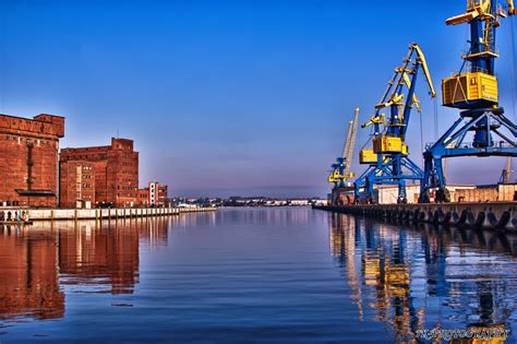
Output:
<svg viewBox="0 0 517 344">
<path fill-rule="evenodd" d="M 63 207 L 86 202 L 92 192 L 95 194 L 93 205 L 133 206 L 137 203 L 139 153 L 133 150 L 133 140 L 112 138 L 111 144 L 106 146 L 64 149 L 59 166 Z M 92 182 L 85 181 L 85 176 L 92 177 Z"/>
</svg>

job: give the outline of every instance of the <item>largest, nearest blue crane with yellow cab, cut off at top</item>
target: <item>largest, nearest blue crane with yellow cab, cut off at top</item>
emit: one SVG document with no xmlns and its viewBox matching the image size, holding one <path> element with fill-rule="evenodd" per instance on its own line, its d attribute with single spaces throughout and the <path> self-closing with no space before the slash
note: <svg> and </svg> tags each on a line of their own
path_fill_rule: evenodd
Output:
<svg viewBox="0 0 517 344">
<path fill-rule="evenodd" d="M 498 105 L 495 75 L 495 31 L 501 19 L 515 15 L 514 1 L 503 9 L 497 0 L 469 0 L 467 12 L 449 17 L 447 25 L 468 23 L 469 50 L 459 72 L 442 81 L 443 105 L 461 110 L 459 118 L 424 156 L 424 176 L 420 202 L 450 201 L 442 159 L 456 156 L 517 156 L 517 127 Z M 515 63 L 515 61 L 514 61 Z M 470 138 L 470 139 L 469 139 Z M 469 141 L 471 140 L 471 141 Z"/>
</svg>

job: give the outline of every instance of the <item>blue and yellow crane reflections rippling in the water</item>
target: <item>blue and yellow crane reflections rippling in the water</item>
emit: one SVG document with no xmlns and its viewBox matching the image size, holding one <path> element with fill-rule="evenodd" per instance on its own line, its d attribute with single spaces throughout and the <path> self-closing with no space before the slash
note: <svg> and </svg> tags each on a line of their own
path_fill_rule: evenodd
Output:
<svg viewBox="0 0 517 344">
<path fill-rule="evenodd" d="M 330 251 L 360 321 L 372 315 L 397 342 L 423 329 L 512 330 L 517 238 L 329 216 Z"/>
</svg>

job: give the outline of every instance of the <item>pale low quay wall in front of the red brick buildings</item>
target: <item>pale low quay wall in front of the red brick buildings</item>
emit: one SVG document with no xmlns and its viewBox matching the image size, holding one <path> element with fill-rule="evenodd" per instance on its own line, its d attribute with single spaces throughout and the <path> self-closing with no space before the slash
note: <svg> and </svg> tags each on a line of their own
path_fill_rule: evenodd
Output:
<svg viewBox="0 0 517 344">
<path fill-rule="evenodd" d="M 0 209 L 15 212 L 20 209 Z M 214 207 L 137 207 L 137 209 L 22 209 L 31 221 L 116 220 L 147 216 L 179 215 L 183 213 L 214 212 Z"/>
</svg>

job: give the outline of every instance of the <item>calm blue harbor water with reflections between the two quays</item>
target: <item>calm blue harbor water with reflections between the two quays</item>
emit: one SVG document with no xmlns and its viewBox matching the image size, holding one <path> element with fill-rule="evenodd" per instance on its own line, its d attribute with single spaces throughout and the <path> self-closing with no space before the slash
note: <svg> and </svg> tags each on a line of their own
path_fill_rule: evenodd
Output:
<svg viewBox="0 0 517 344">
<path fill-rule="evenodd" d="M 0 229 L 0 342 L 414 342 L 507 329 L 517 238 L 310 209 Z"/>
</svg>

